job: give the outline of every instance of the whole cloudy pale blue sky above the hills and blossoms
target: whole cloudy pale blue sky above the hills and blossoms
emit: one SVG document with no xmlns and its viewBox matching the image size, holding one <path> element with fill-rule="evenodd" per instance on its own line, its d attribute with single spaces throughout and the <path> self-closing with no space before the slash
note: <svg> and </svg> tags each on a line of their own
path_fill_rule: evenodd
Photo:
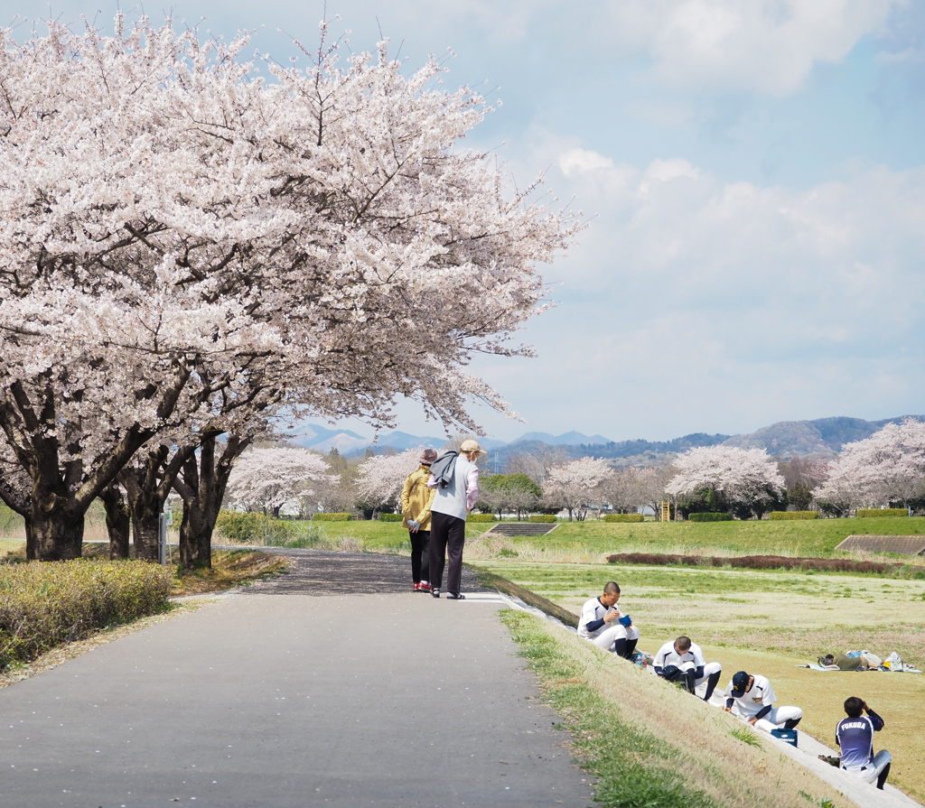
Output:
<svg viewBox="0 0 925 808">
<path fill-rule="evenodd" d="M 115 7 L 52 12 L 100 9 L 111 28 Z M 213 33 L 258 30 L 254 46 L 285 61 L 277 28 L 314 42 L 324 6 L 174 8 Z M 0 11 L 6 24 L 48 4 Z M 473 143 L 503 141 L 521 182 L 551 166 L 549 188 L 597 214 L 545 268 L 558 306 L 524 332 L 538 358 L 474 365 L 527 422 L 475 408 L 489 435 L 925 412 L 925 5 L 331 0 L 335 15 L 354 51 L 381 25 L 409 68 L 451 47 L 448 84 L 500 87 Z M 404 431 L 438 432 L 399 411 Z"/>
</svg>

